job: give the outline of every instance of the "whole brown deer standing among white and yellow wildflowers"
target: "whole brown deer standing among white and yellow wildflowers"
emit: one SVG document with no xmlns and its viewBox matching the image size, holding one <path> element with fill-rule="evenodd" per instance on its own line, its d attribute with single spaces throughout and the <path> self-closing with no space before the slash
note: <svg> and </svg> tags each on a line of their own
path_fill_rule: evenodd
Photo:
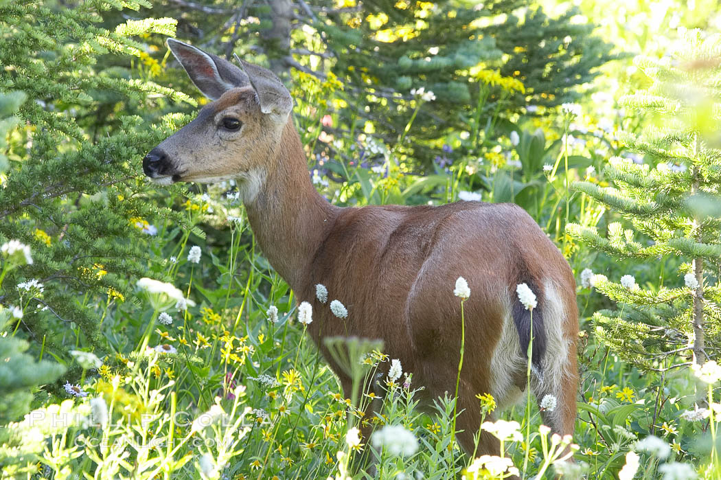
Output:
<svg viewBox="0 0 721 480">
<path fill-rule="evenodd" d="M 559 435 L 576 417 L 578 306 L 570 265 L 518 205 L 461 201 L 446 205 L 341 208 L 317 192 L 293 123 L 293 99 L 271 71 L 236 58 L 238 66 L 179 40 L 167 45 L 211 102 L 143 158 L 159 185 L 237 182 L 257 244 L 273 269 L 308 301 L 307 331 L 351 398 L 352 382 L 329 355 L 326 337 L 381 339 L 418 392 L 421 405 L 456 390 L 461 347 L 459 277 L 464 301 L 465 360 L 458 385 L 456 438 L 474 452 L 481 414 L 477 394 L 497 406 L 515 404 L 530 385 Z M 519 301 L 526 283 L 537 306 Z M 345 305 L 345 319 L 322 303 L 316 285 Z M 531 332 L 532 329 L 532 332 Z M 531 375 L 528 345 L 531 342 Z M 362 386 L 361 388 L 368 388 Z M 372 412 L 371 412 L 372 413 Z M 491 418 L 497 418 L 495 412 Z M 368 429 L 362 429 L 367 438 Z M 483 431 L 477 451 L 497 455 Z"/>
</svg>

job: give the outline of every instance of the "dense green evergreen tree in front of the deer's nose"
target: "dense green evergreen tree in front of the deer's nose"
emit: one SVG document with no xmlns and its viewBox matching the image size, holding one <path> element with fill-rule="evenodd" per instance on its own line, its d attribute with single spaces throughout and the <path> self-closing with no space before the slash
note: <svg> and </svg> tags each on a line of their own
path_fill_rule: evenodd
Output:
<svg viewBox="0 0 721 480">
<path fill-rule="evenodd" d="M 151 190 L 138 175 L 143 155 L 167 135 L 171 119 L 153 128 L 128 115 L 154 111 L 168 97 L 187 99 L 133 79 L 128 68 L 128 57 L 149 61 L 146 44 L 133 37 L 172 35 L 174 20 L 99 26 L 107 10 L 141 5 L 149 6 L 143 0 L 89 0 L 72 8 L 52 1 L 0 4 L 0 93 L 25 92 L 0 177 L 0 244 L 19 240 L 32 247 L 34 259 L 3 270 L 0 303 L 22 306 L 17 335 L 59 357 L 66 355 L 63 342 L 103 350 L 99 318 L 89 307 L 121 301 L 134 283 L 128 280 L 147 275 L 152 248 L 138 225 L 156 215 L 186 224 L 180 213 L 148 201 Z"/>
</svg>

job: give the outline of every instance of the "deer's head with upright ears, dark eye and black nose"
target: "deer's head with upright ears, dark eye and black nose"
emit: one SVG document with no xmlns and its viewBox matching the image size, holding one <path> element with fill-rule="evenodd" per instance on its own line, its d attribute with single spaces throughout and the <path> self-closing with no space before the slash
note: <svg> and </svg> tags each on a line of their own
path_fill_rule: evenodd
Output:
<svg viewBox="0 0 721 480">
<path fill-rule="evenodd" d="M 169 39 L 167 44 L 200 92 L 213 102 L 143 159 L 156 183 L 239 179 L 262 184 L 293 107 L 273 72 L 240 60 L 239 68 L 211 53 Z M 244 195 L 252 195 L 246 191 Z"/>
</svg>

